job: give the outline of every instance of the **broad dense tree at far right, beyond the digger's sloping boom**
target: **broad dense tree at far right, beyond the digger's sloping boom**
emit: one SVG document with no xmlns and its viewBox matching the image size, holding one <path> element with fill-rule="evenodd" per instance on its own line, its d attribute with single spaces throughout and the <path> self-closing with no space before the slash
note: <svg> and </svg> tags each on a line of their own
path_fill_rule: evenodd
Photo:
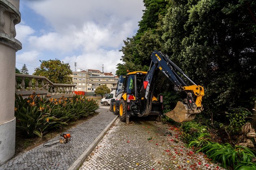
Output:
<svg viewBox="0 0 256 170">
<path fill-rule="evenodd" d="M 206 87 L 212 113 L 248 106 L 255 95 L 255 6 L 252 0 L 174 0 L 165 17 L 165 51 Z"/>
</svg>

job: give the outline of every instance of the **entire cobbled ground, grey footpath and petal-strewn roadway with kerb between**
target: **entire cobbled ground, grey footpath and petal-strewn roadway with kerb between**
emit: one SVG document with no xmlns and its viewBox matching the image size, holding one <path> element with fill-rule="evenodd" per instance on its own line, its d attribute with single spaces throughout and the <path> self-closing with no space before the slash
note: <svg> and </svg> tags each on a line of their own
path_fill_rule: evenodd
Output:
<svg viewBox="0 0 256 170">
<path fill-rule="evenodd" d="M 0 169 L 223 169 L 204 154 L 185 147 L 176 127 L 145 119 L 132 119 L 133 123 L 126 125 L 108 109 L 100 105 L 98 115 L 67 130 L 73 137 L 68 143 L 41 144 L 17 154 Z"/>
</svg>

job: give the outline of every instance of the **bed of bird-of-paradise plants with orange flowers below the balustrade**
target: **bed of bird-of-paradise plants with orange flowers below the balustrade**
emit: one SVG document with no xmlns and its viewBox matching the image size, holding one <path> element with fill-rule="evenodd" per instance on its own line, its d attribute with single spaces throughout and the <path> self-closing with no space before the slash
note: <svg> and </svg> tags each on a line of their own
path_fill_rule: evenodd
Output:
<svg viewBox="0 0 256 170">
<path fill-rule="evenodd" d="M 17 134 L 42 137 L 51 129 L 67 125 L 67 122 L 89 116 L 98 109 L 96 100 L 85 96 L 47 99 L 33 94 L 23 99 L 15 96 L 15 117 Z"/>
</svg>

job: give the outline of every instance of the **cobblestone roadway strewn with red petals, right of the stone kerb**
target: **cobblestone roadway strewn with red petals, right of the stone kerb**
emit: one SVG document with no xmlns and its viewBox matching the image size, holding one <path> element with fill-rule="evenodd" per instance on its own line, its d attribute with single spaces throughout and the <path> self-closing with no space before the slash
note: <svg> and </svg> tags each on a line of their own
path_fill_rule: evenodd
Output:
<svg viewBox="0 0 256 170">
<path fill-rule="evenodd" d="M 222 169 L 184 147 L 176 127 L 155 121 L 125 125 L 117 119 L 80 170 Z"/>
</svg>

